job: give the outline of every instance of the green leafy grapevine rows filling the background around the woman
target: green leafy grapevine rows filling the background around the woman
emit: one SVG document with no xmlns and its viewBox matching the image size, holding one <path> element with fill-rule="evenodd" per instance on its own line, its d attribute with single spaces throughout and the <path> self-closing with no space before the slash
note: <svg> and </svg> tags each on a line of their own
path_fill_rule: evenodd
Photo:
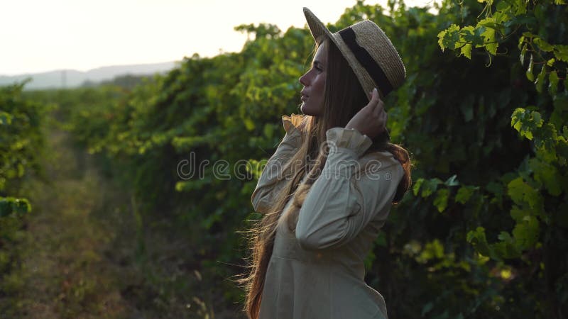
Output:
<svg viewBox="0 0 568 319">
<path fill-rule="evenodd" d="M 390 318 L 566 318 L 567 6 L 434 6 L 438 14 L 357 1 L 328 26 L 375 21 L 407 71 L 385 103 L 393 141 L 413 157 L 413 186 L 366 259 L 366 281 L 386 298 Z M 158 296 L 146 308 L 203 318 L 213 306 L 241 306 L 232 279 L 244 272 L 242 232 L 261 217 L 250 201 L 256 164 L 283 137 L 280 116 L 300 113 L 297 79 L 313 40 L 307 29 L 270 24 L 235 30 L 249 34 L 241 52 L 185 57 L 165 76 L 1 91 L 1 272 L 17 260 L 10 234 L 23 227 L 4 220 L 30 211 L 16 199 L 25 197 L 18 181 L 40 172 L 33 150 L 45 148 L 38 127 L 50 117 L 94 155 L 136 216 L 128 227 L 136 230 L 131 262 L 143 265 L 138 289 Z M 168 238 L 162 245 L 182 245 L 160 246 L 155 234 Z M 175 260 L 164 265 L 166 250 Z M 160 267 L 197 276 L 198 290 L 188 295 L 185 277 L 171 281 Z M 0 286 L 0 298 L 6 291 Z M 188 304 L 196 306 L 173 310 Z"/>
</svg>

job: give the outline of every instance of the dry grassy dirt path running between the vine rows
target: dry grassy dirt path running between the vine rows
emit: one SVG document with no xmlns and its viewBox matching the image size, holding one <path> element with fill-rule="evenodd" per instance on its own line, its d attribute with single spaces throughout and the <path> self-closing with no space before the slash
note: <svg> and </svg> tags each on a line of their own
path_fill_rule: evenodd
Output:
<svg viewBox="0 0 568 319">
<path fill-rule="evenodd" d="M 44 167 L 49 184 L 33 181 L 33 205 L 22 247 L 23 318 L 125 318 L 119 266 L 109 260 L 114 229 L 94 213 L 107 189 L 87 155 L 75 152 L 60 130 L 48 137 Z"/>
</svg>

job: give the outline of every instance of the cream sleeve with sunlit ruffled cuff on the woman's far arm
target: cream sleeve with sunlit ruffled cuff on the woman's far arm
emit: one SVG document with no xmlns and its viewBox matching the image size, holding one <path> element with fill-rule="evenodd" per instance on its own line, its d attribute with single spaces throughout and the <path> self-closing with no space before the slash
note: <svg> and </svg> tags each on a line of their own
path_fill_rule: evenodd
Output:
<svg viewBox="0 0 568 319">
<path fill-rule="evenodd" d="M 274 154 L 268 159 L 251 196 L 254 211 L 258 213 L 271 211 L 276 194 L 285 185 L 286 180 L 279 178 L 282 177 L 284 164 L 295 155 L 302 145 L 302 133 L 297 128 L 302 118 L 303 116 L 296 114 L 282 116 L 286 134 Z"/>
</svg>

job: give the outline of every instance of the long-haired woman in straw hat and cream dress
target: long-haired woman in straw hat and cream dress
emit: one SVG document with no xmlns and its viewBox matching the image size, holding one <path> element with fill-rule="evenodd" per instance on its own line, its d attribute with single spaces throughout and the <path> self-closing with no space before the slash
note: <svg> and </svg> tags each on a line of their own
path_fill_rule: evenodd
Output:
<svg viewBox="0 0 568 319">
<path fill-rule="evenodd" d="M 300 77 L 304 115 L 282 117 L 285 137 L 251 197 L 264 216 L 251 230 L 245 310 L 255 319 L 387 318 L 364 282 L 364 258 L 410 187 L 408 152 L 388 142 L 381 101 L 405 67 L 375 23 L 330 33 L 304 13 L 316 42 Z"/>
</svg>

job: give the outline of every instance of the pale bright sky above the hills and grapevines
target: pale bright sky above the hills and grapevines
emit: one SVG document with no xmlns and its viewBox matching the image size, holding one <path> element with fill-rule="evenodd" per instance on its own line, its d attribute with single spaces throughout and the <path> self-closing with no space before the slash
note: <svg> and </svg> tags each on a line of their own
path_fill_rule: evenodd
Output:
<svg viewBox="0 0 568 319">
<path fill-rule="evenodd" d="M 366 0 L 381 4 L 387 0 Z M 352 1 L 0 0 L 0 75 L 179 61 L 239 52 L 234 26 L 303 28 L 302 7 L 334 23 Z M 425 6 L 432 0 L 406 0 Z"/>
</svg>

